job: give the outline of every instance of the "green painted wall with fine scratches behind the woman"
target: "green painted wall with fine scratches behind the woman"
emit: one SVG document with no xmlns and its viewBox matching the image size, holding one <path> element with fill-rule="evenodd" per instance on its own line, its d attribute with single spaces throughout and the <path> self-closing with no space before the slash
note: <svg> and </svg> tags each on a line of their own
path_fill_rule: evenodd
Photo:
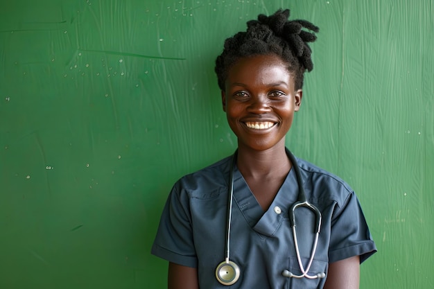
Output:
<svg viewBox="0 0 434 289">
<path fill-rule="evenodd" d="M 236 148 L 214 59 L 281 7 L 320 26 L 287 144 L 358 194 L 361 288 L 433 288 L 432 0 L 1 0 L 0 288 L 165 288 L 168 191 Z"/>
</svg>

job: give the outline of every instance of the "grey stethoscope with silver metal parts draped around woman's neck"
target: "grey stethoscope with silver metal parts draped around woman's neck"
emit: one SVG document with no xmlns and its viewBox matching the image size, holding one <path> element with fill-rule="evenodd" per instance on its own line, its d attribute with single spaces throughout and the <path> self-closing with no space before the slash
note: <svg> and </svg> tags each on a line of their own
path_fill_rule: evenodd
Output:
<svg viewBox="0 0 434 289">
<path fill-rule="evenodd" d="M 230 167 L 229 173 L 229 188 L 228 188 L 228 198 L 227 198 L 227 220 L 226 220 L 226 243 L 225 243 L 225 261 L 218 264 L 216 268 L 216 279 L 222 283 L 223 285 L 229 286 L 238 281 L 241 270 L 236 263 L 229 260 L 229 243 L 230 243 L 230 232 L 231 232 L 231 219 L 232 219 L 232 202 L 234 200 L 234 165 L 236 163 L 236 155 L 237 152 L 232 156 L 232 164 Z M 304 188 L 302 185 L 302 177 L 300 175 L 300 169 L 298 167 L 297 161 L 293 154 L 286 148 L 286 155 L 290 162 L 293 164 L 293 168 L 295 170 L 295 176 L 297 177 L 297 185 L 299 188 L 298 200 L 295 202 L 289 209 L 289 222 L 291 227 L 293 228 L 293 236 L 294 236 L 294 247 L 295 253 L 297 254 L 297 261 L 300 267 L 301 275 L 296 275 L 290 272 L 289 270 L 284 270 L 281 272 L 282 276 L 290 277 L 290 278 L 303 278 L 306 277 L 308 279 L 317 279 L 324 278 L 325 273 L 321 272 L 315 275 L 309 275 L 309 270 L 311 269 L 311 265 L 313 262 L 313 257 L 315 256 L 316 248 L 318 245 L 318 237 L 320 236 L 320 228 L 321 228 L 321 212 L 315 207 L 313 204 L 308 202 L 306 199 L 306 193 L 304 193 Z M 311 257 L 309 258 L 309 263 L 306 268 L 302 263 L 302 258 L 300 257 L 300 249 L 298 247 L 297 240 L 297 232 L 295 231 L 295 209 L 300 207 L 306 207 L 315 213 L 315 240 L 313 241 L 313 246 L 311 250 Z"/>
</svg>

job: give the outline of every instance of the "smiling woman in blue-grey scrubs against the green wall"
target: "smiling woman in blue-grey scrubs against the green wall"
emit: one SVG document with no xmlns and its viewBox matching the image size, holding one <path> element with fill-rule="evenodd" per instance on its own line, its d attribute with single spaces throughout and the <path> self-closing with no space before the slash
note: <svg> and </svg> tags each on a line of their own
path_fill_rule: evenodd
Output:
<svg viewBox="0 0 434 289">
<path fill-rule="evenodd" d="M 216 60 L 238 149 L 173 186 L 152 249 L 169 261 L 170 289 L 358 288 L 360 263 L 376 252 L 348 184 L 285 147 L 313 69 L 316 37 L 303 28 L 318 32 L 288 17 L 259 15 Z M 295 225 L 302 190 L 309 205 Z"/>
</svg>

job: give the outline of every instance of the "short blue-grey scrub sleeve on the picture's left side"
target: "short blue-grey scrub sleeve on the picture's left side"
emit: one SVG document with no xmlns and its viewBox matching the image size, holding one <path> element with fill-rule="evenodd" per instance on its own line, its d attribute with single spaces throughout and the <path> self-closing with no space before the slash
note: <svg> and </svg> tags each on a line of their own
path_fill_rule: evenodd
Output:
<svg viewBox="0 0 434 289">
<path fill-rule="evenodd" d="M 193 242 L 189 197 L 177 182 L 168 196 L 151 254 L 188 267 L 197 267 Z"/>
</svg>

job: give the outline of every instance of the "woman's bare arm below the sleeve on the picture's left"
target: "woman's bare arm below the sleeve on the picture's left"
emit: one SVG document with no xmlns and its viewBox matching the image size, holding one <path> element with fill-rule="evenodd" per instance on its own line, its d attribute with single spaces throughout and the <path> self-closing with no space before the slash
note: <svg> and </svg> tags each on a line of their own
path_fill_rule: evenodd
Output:
<svg viewBox="0 0 434 289">
<path fill-rule="evenodd" d="M 198 268 L 168 263 L 168 289 L 199 289 Z"/>
</svg>

